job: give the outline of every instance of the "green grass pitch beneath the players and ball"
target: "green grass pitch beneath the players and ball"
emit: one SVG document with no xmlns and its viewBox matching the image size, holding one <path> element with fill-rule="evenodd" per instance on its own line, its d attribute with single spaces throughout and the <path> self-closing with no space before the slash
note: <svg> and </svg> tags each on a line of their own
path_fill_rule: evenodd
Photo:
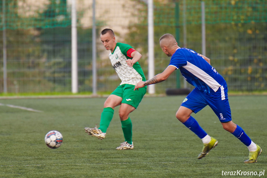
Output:
<svg viewBox="0 0 267 178">
<path fill-rule="evenodd" d="M 227 177 L 222 171 L 237 170 L 265 170 L 261 177 L 267 176 L 267 96 L 229 96 L 234 123 L 263 150 L 254 164 L 243 163 L 247 147 L 223 130 L 208 106 L 192 116 L 219 143 L 198 160 L 201 140 L 175 118 L 184 98 L 143 98 L 130 114 L 134 150 L 115 149 L 124 141 L 118 107 L 104 140 L 84 132 L 84 127 L 99 126 L 106 98 L 2 99 L 2 104 L 43 112 L 0 106 L 0 177 L 199 178 Z M 58 149 L 45 145 L 45 134 L 51 130 L 63 135 Z"/>
</svg>

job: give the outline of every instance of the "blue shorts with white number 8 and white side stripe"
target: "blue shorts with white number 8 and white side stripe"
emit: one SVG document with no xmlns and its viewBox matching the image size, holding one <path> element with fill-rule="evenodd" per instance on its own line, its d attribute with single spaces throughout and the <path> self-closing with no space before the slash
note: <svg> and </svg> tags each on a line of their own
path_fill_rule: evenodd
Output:
<svg viewBox="0 0 267 178">
<path fill-rule="evenodd" d="M 227 85 L 221 86 L 215 93 L 204 93 L 199 89 L 193 89 L 183 100 L 181 106 L 191 109 L 197 113 L 205 106 L 209 105 L 219 118 L 220 122 L 232 120 L 230 105 L 228 102 Z"/>
</svg>

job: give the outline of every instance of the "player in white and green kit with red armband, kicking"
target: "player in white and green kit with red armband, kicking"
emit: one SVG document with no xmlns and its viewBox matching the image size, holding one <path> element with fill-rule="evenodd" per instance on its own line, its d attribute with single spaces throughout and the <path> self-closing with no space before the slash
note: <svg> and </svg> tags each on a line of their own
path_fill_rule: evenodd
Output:
<svg viewBox="0 0 267 178">
<path fill-rule="evenodd" d="M 130 45 L 117 43 L 114 32 L 109 28 L 101 31 L 100 38 L 106 50 L 110 50 L 110 62 L 122 82 L 104 103 L 100 127 L 86 127 L 84 130 L 88 135 L 95 136 L 101 140 L 104 139 L 114 114 L 114 107 L 120 105 L 119 117 L 125 141 L 116 149 L 132 150 L 134 145 L 132 142 L 132 123 L 129 114 L 137 108 L 146 93 L 146 87 L 134 91 L 135 85 L 140 80 L 146 80 L 144 72 L 138 63 L 142 55 Z"/>
</svg>

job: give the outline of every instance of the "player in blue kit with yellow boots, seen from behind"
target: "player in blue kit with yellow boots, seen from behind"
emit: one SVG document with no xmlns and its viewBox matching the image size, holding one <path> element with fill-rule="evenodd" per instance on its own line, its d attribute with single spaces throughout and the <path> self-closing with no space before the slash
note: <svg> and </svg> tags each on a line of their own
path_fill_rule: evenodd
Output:
<svg viewBox="0 0 267 178">
<path fill-rule="evenodd" d="M 257 162 L 261 147 L 251 141 L 241 127 L 232 122 L 226 81 L 210 65 L 210 59 L 196 51 L 180 48 L 171 34 L 164 34 L 159 42 L 162 51 L 171 56 L 169 66 L 152 79 L 137 83 L 134 90 L 162 82 L 176 69 L 180 69 L 186 81 L 196 88 L 183 100 L 176 117 L 202 140 L 204 146 L 198 159 L 204 158 L 218 144 L 218 141 L 210 137 L 191 116 L 192 112 L 197 113 L 209 105 L 222 123 L 222 127 L 248 147 L 249 158 L 244 163 Z"/>
</svg>

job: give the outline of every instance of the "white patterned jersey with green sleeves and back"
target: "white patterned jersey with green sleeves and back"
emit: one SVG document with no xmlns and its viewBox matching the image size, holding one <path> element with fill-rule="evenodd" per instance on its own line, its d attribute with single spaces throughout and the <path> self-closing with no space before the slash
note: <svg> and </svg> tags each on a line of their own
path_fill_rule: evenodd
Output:
<svg viewBox="0 0 267 178">
<path fill-rule="evenodd" d="M 146 80 L 144 72 L 138 62 L 136 62 L 133 67 L 129 67 L 127 65 L 127 59 L 132 59 L 131 57 L 127 56 L 127 51 L 131 48 L 132 47 L 130 45 L 117 43 L 113 53 L 110 52 L 109 54 L 112 67 L 122 80 L 120 85 L 136 85 L 141 80 Z"/>
</svg>

